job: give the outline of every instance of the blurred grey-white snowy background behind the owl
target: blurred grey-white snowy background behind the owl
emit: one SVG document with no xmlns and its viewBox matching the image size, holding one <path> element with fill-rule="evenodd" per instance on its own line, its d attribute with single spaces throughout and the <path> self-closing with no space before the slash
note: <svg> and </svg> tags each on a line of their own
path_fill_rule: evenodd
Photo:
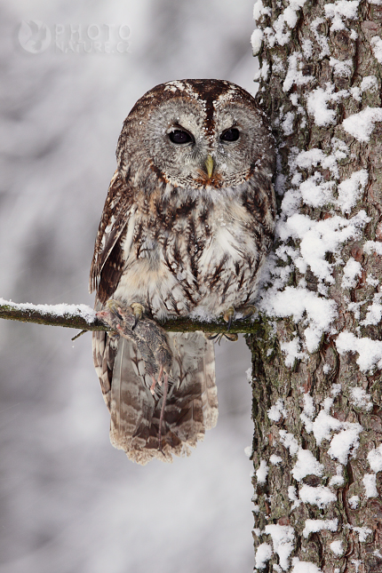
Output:
<svg viewBox="0 0 382 573">
<path fill-rule="evenodd" d="M 0 297 L 92 306 L 94 237 L 124 117 L 175 78 L 253 93 L 252 3 L 2 3 Z M 113 49 L 123 53 L 102 53 Z M 243 339 L 217 346 L 218 426 L 190 458 L 140 467 L 108 442 L 90 334 L 0 328 L 0 573 L 252 569 Z"/>
</svg>

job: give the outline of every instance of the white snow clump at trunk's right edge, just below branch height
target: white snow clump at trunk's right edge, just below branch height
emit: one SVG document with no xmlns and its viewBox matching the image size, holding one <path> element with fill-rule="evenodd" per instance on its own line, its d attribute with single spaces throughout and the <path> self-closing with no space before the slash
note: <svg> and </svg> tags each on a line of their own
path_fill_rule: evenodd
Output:
<svg viewBox="0 0 382 573">
<path fill-rule="evenodd" d="M 382 342 L 371 338 L 357 338 L 352 332 L 345 330 L 338 334 L 336 347 L 339 354 L 346 352 L 359 354 L 357 364 L 362 372 L 375 368 L 382 369 Z"/>
</svg>

